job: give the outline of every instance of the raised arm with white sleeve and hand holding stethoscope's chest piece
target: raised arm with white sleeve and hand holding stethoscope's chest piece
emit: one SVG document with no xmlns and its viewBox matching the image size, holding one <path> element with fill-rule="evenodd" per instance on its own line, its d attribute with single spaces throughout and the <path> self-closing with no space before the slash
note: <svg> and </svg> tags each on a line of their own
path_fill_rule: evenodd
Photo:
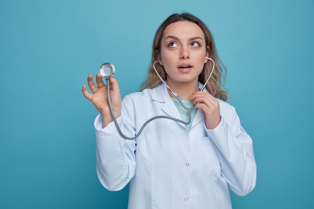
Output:
<svg viewBox="0 0 314 209">
<path fill-rule="evenodd" d="M 97 175 L 108 190 L 120 190 L 135 172 L 135 141 L 125 140 L 119 136 L 112 122 L 107 86 L 103 83 L 101 75 L 98 73 L 96 76 L 97 86 L 91 74 L 87 82 L 93 94 L 87 91 L 86 85 L 83 85 L 82 92 L 100 112 L 95 120 Z M 110 78 L 109 82 L 112 108 L 123 131 L 120 90 L 115 78 Z"/>
</svg>

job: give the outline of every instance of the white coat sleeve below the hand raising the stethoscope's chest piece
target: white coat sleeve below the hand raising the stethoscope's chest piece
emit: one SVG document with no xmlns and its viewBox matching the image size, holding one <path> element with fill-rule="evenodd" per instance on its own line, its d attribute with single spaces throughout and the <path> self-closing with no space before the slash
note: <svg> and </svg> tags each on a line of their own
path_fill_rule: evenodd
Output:
<svg viewBox="0 0 314 209">
<path fill-rule="evenodd" d="M 122 126 L 122 118 L 117 119 Z M 95 119 L 96 171 L 101 184 L 108 190 L 122 189 L 135 173 L 135 141 L 119 136 L 114 123 L 103 127 L 102 116 Z"/>
</svg>

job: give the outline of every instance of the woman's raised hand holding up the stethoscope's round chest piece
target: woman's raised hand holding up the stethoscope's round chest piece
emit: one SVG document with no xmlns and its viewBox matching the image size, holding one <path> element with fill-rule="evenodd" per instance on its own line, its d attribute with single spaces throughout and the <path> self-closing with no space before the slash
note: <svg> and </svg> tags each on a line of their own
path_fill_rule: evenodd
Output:
<svg viewBox="0 0 314 209">
<path fill-rule="evenodd" d="M 110 82 L 110 99 L 111 105 L 116 118 L 121 116 L 121 94 L 118 86 L 118 82 L 114 77 L 109 79 Z M 100 114 L 103 117 L 103 127 L 106 127 L 110 122 L 113 121 L 111 116 L 111 112 L 108 105 L 108 97 L 107 97 L 107 86 L 102 81 L 102 77 L 100 73 L 96 75 L 96 83 L 97 86 L 93 82 L 93 75 L 89 74 L 87 78 L 88 87 L 93 92 L 93 94 L 87 91 L 87 87 L 84 84 L 82 88 L 82 92 L 84 96 L 90 100 Z"/>
</svg>

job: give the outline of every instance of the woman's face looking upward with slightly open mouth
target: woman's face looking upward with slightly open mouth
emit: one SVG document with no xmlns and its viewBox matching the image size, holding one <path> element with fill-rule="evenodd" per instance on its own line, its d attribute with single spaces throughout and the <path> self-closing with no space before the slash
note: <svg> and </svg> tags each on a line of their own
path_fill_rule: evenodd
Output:
<svg viewBox="0 0 314 209">
<path fill-rule="evenodd" d="M 167 83 L 196 85 L 208 51 L 205 35 L 197 24 L 182 21 L 167 26 L 158 56 L 167 73 Z"/>
</svg>

